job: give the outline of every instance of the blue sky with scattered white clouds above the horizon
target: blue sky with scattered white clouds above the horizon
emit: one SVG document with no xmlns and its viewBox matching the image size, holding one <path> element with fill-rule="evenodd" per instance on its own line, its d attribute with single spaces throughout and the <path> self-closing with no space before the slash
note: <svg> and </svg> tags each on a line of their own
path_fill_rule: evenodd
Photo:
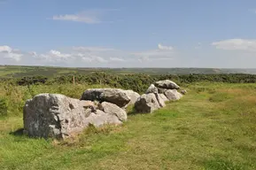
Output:
<svg viewBox="0 0 256 170">
<path fill-rule="evenodd" d="M 0 65 L 256 68 L 255 0 L 0 0 Z"/>
</svg>

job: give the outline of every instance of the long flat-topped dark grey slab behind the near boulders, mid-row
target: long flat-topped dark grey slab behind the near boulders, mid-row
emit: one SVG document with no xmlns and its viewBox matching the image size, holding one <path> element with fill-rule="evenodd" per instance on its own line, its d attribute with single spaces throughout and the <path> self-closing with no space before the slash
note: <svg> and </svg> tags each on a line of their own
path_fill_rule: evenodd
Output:
<svg viewBox="0 0 256 170">
<path fill-rule="evenodd" d="M 81 100 L 110 102 L 125 107 L 130 102 L 130 97 L 123 89 L 87 89 L 83 92 Z"/>
</svg>

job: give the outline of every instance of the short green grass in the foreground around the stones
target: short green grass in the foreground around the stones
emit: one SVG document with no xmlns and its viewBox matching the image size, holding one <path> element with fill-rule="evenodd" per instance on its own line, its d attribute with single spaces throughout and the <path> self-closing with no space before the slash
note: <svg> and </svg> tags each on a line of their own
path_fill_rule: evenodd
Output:
<svg viewBox="0 0 256 170">
<path fill-rule="evenodd" d="M 159 111 L 129 114 L 120 127 L 91 127 L 62 142 L 27 138 L 17 131 L 22 118 L 2 118 L 0 167 L 254 170 L 255 88 L 255 84 L 188 85 L 188 95 Z"/>
</svg>

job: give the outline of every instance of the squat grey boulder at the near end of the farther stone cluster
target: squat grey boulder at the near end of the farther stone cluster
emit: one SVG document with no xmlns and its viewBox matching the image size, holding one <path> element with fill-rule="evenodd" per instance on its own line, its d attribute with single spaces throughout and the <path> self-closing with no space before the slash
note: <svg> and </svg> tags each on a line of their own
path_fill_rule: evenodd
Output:
<svg viewBox="0 0 256 170">
<path fill-rule="evenodd" d="M 159 108 L 159 101 L 153 93 L 142 95 L 137 99 L 135 104 L 137 112 L 153 112 Z"/>
</svg>

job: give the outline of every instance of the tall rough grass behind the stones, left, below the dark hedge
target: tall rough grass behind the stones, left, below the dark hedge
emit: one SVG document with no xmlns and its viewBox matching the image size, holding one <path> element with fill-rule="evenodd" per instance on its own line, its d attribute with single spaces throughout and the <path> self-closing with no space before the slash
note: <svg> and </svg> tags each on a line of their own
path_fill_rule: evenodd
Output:
<svg viewBox="0 0 256 170">
<path fill-rule="evenodd" d="M 10 83 L 0 84 L 0 117 L 20 116 L 27 99 L 41 93 L 63 94 L 67 97 L 80 98 L 84 90 L 89 88 L 103 88 L 105 85 L 86 85 L 71 83 L 53 85 L 17 86 Z"/>
</svg>

